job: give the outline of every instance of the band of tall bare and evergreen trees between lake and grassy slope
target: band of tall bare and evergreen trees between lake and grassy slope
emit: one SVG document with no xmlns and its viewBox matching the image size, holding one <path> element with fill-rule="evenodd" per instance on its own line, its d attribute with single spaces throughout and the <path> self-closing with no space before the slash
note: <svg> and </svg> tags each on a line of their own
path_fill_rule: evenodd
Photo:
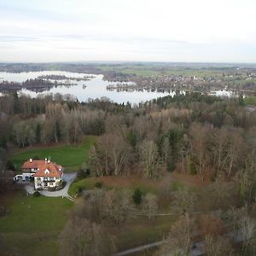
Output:
<svg viewBox="0 0 256 256">
<path fill-rule="evenodd" d="M 164 172 L 232 177 L 255 159 L 256 113 L 241 99 L 199 93 L 166 96 L 131 108 L 108 99 L 0 97 L 0 146 L 79 143 L 97 135 L 87 168 L 96 176 Z M 249 171 L 247 171 L 249 172 Z"/>
</svg>

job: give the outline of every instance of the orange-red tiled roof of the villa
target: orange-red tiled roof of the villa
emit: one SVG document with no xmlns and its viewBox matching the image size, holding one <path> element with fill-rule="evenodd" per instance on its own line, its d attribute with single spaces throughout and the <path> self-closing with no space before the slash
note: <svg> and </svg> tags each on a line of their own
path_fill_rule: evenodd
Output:
<svg viewBox="0 0 256 256">
<path fill-rule="evenodd" d="M 38 172 L 35 173 L 34 177 L 61 177 L 62 171 L 61 166 L 56 165 L 55 163 L 48 162 L 45 160 L 27 160 L 22 169 L 38 169 Z M 45 170 L 49 170 L 49 173 L 45 173 Z"/>
</svg>

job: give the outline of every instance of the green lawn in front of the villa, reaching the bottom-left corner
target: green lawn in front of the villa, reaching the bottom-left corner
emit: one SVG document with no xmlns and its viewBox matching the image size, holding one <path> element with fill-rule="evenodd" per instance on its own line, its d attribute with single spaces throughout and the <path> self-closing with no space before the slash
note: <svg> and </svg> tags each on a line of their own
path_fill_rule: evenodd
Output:
<svg viewBox="0 0 256 256">
<path fill-rule="evenodd" d="M 0 254 L 57 255 L 58 236 L 71 207 L 73 202 L 65 198 L 15 195 L 9 214 L 0 218 Z"/>
</svg>

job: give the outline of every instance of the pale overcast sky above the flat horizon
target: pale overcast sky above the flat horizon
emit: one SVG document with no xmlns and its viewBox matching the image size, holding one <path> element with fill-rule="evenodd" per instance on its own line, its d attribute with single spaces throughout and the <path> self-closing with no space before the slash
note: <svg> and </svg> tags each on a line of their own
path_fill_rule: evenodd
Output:
<svg viewBox="0 0 256 256">
<path fill-rule="evenodd" d="M 0 61 L 256 62 L 256 0 L 0 0 Z"/>
</svg>

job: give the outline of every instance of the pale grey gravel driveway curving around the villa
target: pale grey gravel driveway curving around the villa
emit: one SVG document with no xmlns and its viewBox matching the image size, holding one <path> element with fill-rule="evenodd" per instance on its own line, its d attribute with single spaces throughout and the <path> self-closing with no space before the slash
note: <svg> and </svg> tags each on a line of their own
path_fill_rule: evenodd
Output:
<svg viewBox="0 0 256 256">
<path fill-rule="evenodd" d="M 68 189 L 71 183 L 73 183 L 73 180 L 76 178 L 77 173 L 76 172 L 70 172 L 70 173 L 64 173 L 63 174 L 63 180 L 67 181 L 66 186 L 57 191 L 48 191 L 48 190 L 42 190 L 39 191 L 41 195 L 49 196 L 49 197 L 67 197 L 69 200 L 73 201 L 73 197 L 68 195 Z M 26 184 L 25 186 L 26 192 L 29 194 L 33 194 L 35 192 L 34 185 L 33 183 Z"/>
</svg>

